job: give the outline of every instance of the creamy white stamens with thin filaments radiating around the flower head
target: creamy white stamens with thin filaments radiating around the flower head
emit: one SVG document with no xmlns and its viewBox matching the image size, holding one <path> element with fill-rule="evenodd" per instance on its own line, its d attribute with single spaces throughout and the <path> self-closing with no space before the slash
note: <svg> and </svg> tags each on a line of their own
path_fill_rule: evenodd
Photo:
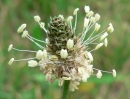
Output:
<svg viewBox="0 0 130 99">
<path fill-rule="evenodd" d="M 86 82 L 87 79 L 90 77 L 90 75 L 93 74 L 94 70 L 98 71 L 97 74 L 96 74 L 97 78 L 101 78 L 102 77 L 102 72 L 112 73 L 113 77 L 116 77 L 116 71 L 114 69 L 112 70 L 112 72 L 108 72 L 108 71 L 102 71 L 102 70 L 93 68 L 93 65 L 92 65 L 92 63 L 93 63 L 93 56 L 91 54 L 92 51 L 98 50 L 103 45 L 105 45 L 105 47 L 107 47 L 107 45 L 108 45 L 107 36 L 109 35 L 109 33 L 112 33 L 114 31 L 114 28 L 113 28 L 112 24 L 110 23 L 109 27 L 106 30 L 104 30 L 104 31 L 98 33 L 97 35 L 93 36 L 93 34 L 95 32 L 98 32 L 100 27 L 101 27 L 101 25 L 97 23 L 97 21 L 100 19 L 100 15 L 99 14 L 95 14 L 94 15 L 94 12 L 90 11 L 89 6 L 85 6 L 84 10 L 85 10 L 86 16 L 84 18 L 83 31 L 82 31 L 82 35 L 79 37 L 79 41 L 82 42 L 83 46 L 89 46 L 91 44 L 96 44 L 96 47 L 94 49 L 91 49 L 90 51 L 86 51 L 85 52 L 87 60 L 84 60 L 83 63 L 81 63 L 81 64 L 87 65 L 87 66 L 86 67 L 78 67 L 77 68 L 78 75 L 81 78 L 78 79 L 78 78 L 74 77 L 74 76 L 77 75 L 76 69 L 68 70 L 70 72 L 70 75 L 67 74 L 66 72 L 63 72 L 63 74 L 67 75 L 68 77 L 65 76 L 65 77 L 59 78 L 59 86 L 63 85 L 64 80 L 72 80 L 70 82 L 70 90 L 71 91 L 74 91 L 75 89 L 78 89 L 77 88 L 77 85 L 79 85 L 78 81 Z M 77 12 L 78 11 L 79 11 L 79 8 L 76 8 L 74 10 L 74 12 L 73 12 L 73 16 L 69 16 L 66 19 L 66 21 L 70 24 L 71 28 L 73 29 L 74 34 L 75 34 L 75 30 L 76 30 L 76 25 L 77 25 Z M 59 17 L 64 19 L 63 15 L 59 15 Z M 73 17 L 74 17 L 74 20 L 75 20 L 74 27 L 72 25 Z M 34 20 L 36 22 L 38 22 L 40 27 L 45 31 L 45 33 L 47 33 L 47 30 L 45 28 L 45 23 L 41 22 L 41 18 L 38 15 L 34 16 Z M 86 34 L 88 33 L 88 31 L 94 25 L 95 25 L 95 27 L 94 27 L 93 32 L 90 34 L 90 36 L 87 39 L 85 39 Z M 37 43 L 37 42 L 42 42 L 42 43 L 45 43 L 45 44 L 49 44 L 50 42 L 49 42 L 48 38 L 46 38 L 45 41 L 42 41 L 42 40 L 38 40 L 38 39 L 30 36 L 28 31 L 26 30 L 26 24 L 22 24 L 18 28 L 17 32 L 18 33 L 22 33 L 23 32 L 22 38 L 28 38 L 30 41 L 35 43 L 40 48 L 40 50 L 38 50 L 38 51 L 19 50 L 19 49 L 14 48 L 13 45 L 10 44 L 10 46 L 8 48 L 8 51 L 11 51 L 13 49 L 13 50 L 16 50 L 16 51 L 33 52 L 33 53 L 36 53 L 36 56 L 34 58 L 19 59 L 19 60 L 15 60 L 14 58 L 11 58 L 11 60 L 8 63 L 9 65 L 11 65 L 14 61 L 27 60 L 29 67 L 35 67 L 35 66 L 41 66 L 42 64 L 44 64 L 44 63 L 40 62 L 41 60 L 44 60 L 44 61 L 46 61 L 46 59 L 49 59 L 49 60 L 52 60 L 52 61 L 53 60 L 58 60 L 58 57 L 56 55 L 50 55 L 50 53 L 48 53 L 46 51 L 45 47 L 43 47 L 43 46 L 41 46 L 40 44 Z M 99 43 L 94 42 L 97 39 L 99 39 L 99 41 L 101 41 L 101 42 L 99 42 Z M 73 39 L 68 39 L 66 47 L 67 47 L 66 49 L 61 49 L 61 51 L 60 51 L 60 57 L 63 60 L 66 59 L 69 56 L 68 55 L 68 50 L 73 50 L 74 47 L 75 47 Z M 74 60 L 77 61 L 77 62 L 80 62 L 81 59 L 80 59 L 80 57 L 76 57 Z M 46 74 L 46 80 L 50 81 L 51 78 L 52 77 L 51 77 L 51 71 L 50 71 L 50 72 L 48 72 Z M 78 81 L 75 80 L 75 79 L 78 79 Z"/>
</svg>

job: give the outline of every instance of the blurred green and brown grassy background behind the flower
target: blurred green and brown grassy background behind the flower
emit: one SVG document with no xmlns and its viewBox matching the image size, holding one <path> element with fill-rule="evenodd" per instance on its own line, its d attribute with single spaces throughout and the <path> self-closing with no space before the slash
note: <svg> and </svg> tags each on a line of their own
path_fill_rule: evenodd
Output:
<svg viewBox="0 0 130 99">
<path fill-rule="evenodd" d="M 47 83 L 39 67 L 29 68 L 27 62 L 14 62 L 10 58 L 33 57 L 29 53 L 7 52 L 8 45 L 19 49 L 38 50 L 27 39 L 18 35 L 17 28 L 27 23 L 27 30 L 38 39 L 45 39 L 45 33 L 34 21 L 40 15 L 47 25 L 50 16 L 72 15 L 78 12 L 77 32 L 82 31 L 85 16 L 84 6 L 101 15 L 102 30 L 111 22 L 114 33 L 109 35 L 109 45 L 93 52 L 94 67 L 117 70 L 117 77 L 103 74 L 101 79 L 90 77 L 81 83 L 79 90 L 70 92 L 69 99 L 130 99 L 130 0 L 0 0 L 0 99 L 60 99 L 62 88 Z"/>
</svg>

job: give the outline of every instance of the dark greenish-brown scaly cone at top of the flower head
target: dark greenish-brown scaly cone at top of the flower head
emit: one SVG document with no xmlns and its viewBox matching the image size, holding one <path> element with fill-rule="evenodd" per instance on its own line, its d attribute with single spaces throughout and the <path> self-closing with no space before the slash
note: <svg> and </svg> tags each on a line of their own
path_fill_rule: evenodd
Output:
<svg viewBox="0 0 130 99">
<path fill-rule="evenodd" d="M 61 49 L 67 49 L 68 39 L 74 39 L 74 33 L 69 23 L 58 16 L 50 19 L 47 37 L 49 40 L 47 51 L 59 56 Z"/>
</svg>

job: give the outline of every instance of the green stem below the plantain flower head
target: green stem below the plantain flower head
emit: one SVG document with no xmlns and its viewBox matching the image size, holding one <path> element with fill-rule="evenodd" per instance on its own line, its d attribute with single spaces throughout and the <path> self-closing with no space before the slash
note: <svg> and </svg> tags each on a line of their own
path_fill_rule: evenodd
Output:
<svg viewBox="0 0 130 99">
<path fill-rule="evenodd" d="M 68 98 L 69 84 L 70 84 L 70 81 L 69 81 L 69 80 L 65 80 L 65 81 L 64 81 L 62 99 L 67 99 L 67 98 Z"/>
</svg>

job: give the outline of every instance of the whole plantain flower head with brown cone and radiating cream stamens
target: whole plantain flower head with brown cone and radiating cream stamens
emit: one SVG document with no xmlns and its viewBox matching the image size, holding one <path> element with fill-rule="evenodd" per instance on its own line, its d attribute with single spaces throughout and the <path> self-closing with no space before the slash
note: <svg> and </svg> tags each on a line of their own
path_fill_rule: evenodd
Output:
<svg viewBox="0 0 130 99">
<path fill-rule="evenodd" d="M 22 33 L 22 38 L 27 38 L 37 45 L 39 50 L 20 50 L 14 48 L 11 44 L 8 51 L 30 52 L 35 53 L 36 56 L 19 60 L 12 58 L 9 61 L 9 65 L 15 61 L 28 61 L 29 67 L 40 67 L 40 70 L 46 76 L 47 82 L 53 83 L 58 80 L 58 85 L 62 86 L 65 80 L 69 80 L 70 91 L 78 89 L 77 86 L 80 82 L 87 82 L 87 79 L 92 75 L 101 78 L 103 72 L 107 72 L 116 77 L 115 69 L 112 72 L 108 72 L 94 68 L 94 57 L 92 55 L 93 51 L 103 46 L 107 47 L 107 37 L 114 31 L 113 25 L 110 23 L 108 28 L 98 33 L 101 27 L 98 23 L 100 15 L 98 13 L 94 14 L 89 6 L 85 6 L 84 10 L 86 15 L 83 22 L 83 30 L 80 33 L 76 31 L 78 28 L 79 8 L 76 8 L 68 18 L 64 18 L 63 15 L 51 17 L 48 26 L 45 26 L 40 16 L 34 16 L 34 20 L 46 33 L 47 38 L 45 41 L 32 37 L 26 30 L 26 24 L 22 24 L 17 32 Z M 88 33 L 90 32 L 89 30 L 92 30 L 91 34 Z M 40 45 L 41 43 L 39 44 L 39 42 L 44 43 L 43 45 L 45 46 Z M 91 45 L 95 45 L 95 47 L 92 48 L 90 47 Z"/>
</svg>

